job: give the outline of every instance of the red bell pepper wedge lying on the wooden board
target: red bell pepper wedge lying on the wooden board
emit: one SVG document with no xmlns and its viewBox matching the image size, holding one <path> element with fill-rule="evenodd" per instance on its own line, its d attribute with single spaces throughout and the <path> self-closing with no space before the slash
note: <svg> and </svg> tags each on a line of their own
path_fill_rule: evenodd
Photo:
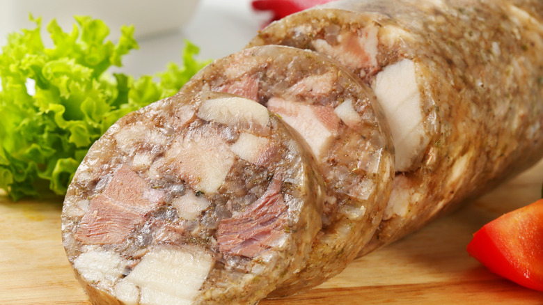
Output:
<svg viewBox="0 0 543 305">
<path fill-rule="evenodd" d="M 543 291 L 543 199 L 485 224 L 467 251 L 491 272 Z"/>
</svg>

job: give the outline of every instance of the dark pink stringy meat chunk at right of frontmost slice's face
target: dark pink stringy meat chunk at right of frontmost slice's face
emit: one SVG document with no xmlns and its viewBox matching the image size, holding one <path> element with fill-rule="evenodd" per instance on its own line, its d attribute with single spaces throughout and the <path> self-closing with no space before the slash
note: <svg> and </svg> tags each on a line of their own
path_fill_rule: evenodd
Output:
<svg viewBox="0 0 543 305">
<path fill-rule="evenodd" d="M 219 222 L 217 242 L 221 253 L 253 258 L 281 239 L 287 224 L 287 206 L 279 191 L 281 180 L 274 178 L 248 210 Z"/>
</svg>

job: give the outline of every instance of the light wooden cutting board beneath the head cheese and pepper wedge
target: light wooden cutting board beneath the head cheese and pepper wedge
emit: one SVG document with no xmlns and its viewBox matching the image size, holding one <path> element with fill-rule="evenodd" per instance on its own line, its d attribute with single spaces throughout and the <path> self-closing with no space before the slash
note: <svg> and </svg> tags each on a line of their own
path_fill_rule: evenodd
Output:
<svg viewBox="0 0 543 305">
<path fill-rule="evenodd" d="M 541 197 L 543 162 L 473 204 L 355 260 L 309 292 L 272 304 L 543 304 L 543 292 L 491 274 L 466 253 L 471 234 Z M 90 304 L 61 244 L 62 198 L 0 194 L 0 304 Z"/>
</svg>

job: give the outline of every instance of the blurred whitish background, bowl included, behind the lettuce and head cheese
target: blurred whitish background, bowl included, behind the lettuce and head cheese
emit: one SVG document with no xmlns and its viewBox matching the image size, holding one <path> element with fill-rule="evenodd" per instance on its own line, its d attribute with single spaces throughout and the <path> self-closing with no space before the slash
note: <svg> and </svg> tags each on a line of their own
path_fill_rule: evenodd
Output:
<svg viewBox="0 0 543 305">
<path fill-rule="evenodd" d="M 200 59 L 237 52 L 269 17 L 255 13 L 251 0 L 0 0 L 1 46 L 8 33 L 34 27 L 29 13 L 42 16 L 43 28 L 56 18 L 64 31 L 71 31 L 73 15 L 104 19 L 112 40 L 121 24 L 134 24 L 140 49 L 125 56 L 124 67 L 116 70 L 135 77 L 165 70 L 171 61 L 180 63 L 185 38 L 200 47 Z"/>
</svg>

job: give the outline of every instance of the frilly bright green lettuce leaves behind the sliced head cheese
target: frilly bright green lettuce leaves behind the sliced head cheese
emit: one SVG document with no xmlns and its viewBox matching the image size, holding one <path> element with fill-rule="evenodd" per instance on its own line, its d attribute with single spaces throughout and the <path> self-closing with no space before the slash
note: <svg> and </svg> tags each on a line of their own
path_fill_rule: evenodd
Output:
<svg viewBox="0 0 543 305">
<path fill-rule="evenodd" d="M 39 197 L 43 189 L 63 195 L 88 148 L 125 114 L 173 95 L 208 62 L 186 42 L 184 65 L 168 65 L 154 77 L 109 75 L 138 48 L 134 27 L 123 26 L 116 44 L 99 19 L 75 17 L 71 32 L 53 20 L 53 46 L 36 29 L 12 33 L 0 54 L 0 188 L 13 201 Z M 155 81 L 155 79 L 157 79 Z"/>
</svg>

